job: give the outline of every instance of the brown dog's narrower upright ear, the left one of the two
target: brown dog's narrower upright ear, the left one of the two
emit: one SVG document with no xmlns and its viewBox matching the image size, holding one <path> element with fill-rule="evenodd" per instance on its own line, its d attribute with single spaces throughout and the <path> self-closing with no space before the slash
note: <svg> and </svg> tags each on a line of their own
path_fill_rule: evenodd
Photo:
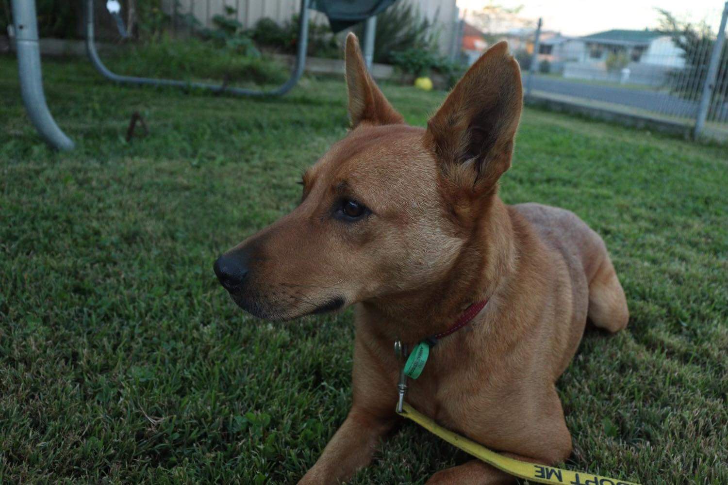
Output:
<svg viewBox="0 0 728 485">
<path fill-rule="evenodd" d="M 352 121 L 352 128 L 360 123 L 403 124 L 405 121 L 402 115 L 392 108 L 369 76 L 354 33 L 347 36 L 346 65 L 349 119 Z"/>
</svg>

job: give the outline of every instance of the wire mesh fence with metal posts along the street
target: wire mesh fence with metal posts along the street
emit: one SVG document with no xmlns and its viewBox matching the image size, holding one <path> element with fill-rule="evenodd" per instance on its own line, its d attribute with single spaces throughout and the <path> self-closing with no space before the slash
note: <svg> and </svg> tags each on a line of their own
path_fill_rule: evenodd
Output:
<svg viewBox="0 0 728 485">
<path fill-rule="evenodd" d="M 728 2 L 719 30 L 611 30 L 566 37 L 537 28 L 526 92 L 646 120 L 689 127 L 694 135 L 728 138 Z"/>
</svg>

